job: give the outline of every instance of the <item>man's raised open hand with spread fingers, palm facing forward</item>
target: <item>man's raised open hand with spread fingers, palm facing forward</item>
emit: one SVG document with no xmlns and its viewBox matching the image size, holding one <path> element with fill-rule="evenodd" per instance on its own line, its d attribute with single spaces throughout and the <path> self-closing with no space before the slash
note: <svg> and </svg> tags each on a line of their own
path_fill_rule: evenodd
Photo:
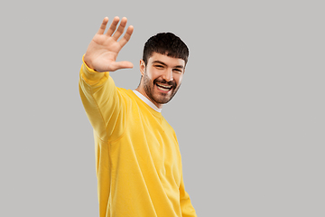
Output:
<svg viewBox="0 0 325 217">
<path fill-rule="evenodd" d="M 134 27 L 130 25 L 125 35 L 117 42 L 118 38 L 124 33 L 127 19 L 122 18 L 121 23 L 117 27 L 119 18 L 116 16 L 110 25 L 107 33 L 105 29 L 108 23 L 108 17 L 105 17 L 101 24 L 98 33 L 88 45 L 87 52 L 84 56 L 84 61 L 89 68 L 98 71 L 116 71 L 119 69 L 133 68 L 130 61 L 116 61 L 118 52 L 125 46 L 131 38 Z M 116 31 L 116 33 L 114 33 Z"/>
</svg>

